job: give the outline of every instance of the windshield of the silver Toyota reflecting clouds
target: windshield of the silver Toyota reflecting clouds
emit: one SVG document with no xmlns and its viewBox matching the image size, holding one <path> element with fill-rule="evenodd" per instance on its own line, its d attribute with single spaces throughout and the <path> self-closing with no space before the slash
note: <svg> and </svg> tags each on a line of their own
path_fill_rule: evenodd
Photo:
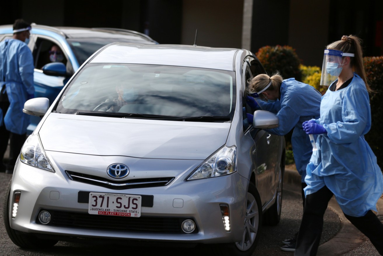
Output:
<svg viewBox="0 0 383 256">
<path fill-rule="evenodd" d="M 97 63 L 75 76 L 56 112 L 225 122 L 234 115 L 235 99 L 233 71 Z"/>
</svg>

